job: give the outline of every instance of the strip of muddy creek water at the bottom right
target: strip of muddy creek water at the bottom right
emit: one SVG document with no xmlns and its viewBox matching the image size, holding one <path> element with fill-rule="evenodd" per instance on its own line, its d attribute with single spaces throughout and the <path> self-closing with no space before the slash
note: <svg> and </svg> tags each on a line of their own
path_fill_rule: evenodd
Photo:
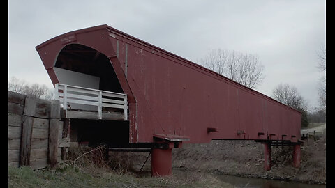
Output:
<svg viewBox="0 0 335 188">
<path fill-rule="evenodd" d="M 315 185 L 298 182 L 285 182 L 279 180 L 265 180 L 261 178 L 241 178 L 233 175 L 216 175 L 218 180 L 228 182 L 234 187 L 248 188 L 325 188 L 326 185 Z"/>
</svg>

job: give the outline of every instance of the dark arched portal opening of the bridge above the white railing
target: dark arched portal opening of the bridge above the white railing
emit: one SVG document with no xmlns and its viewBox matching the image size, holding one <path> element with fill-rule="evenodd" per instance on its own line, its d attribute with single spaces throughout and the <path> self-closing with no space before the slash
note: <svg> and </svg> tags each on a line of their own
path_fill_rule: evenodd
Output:
<svg viewBox="0 0 335 188">
<path fill-rule="evenodd" d="M 66 45 L 59 52 L 54 72 L 60 84 L 124 93 L 109 58 L 91 47 Z"/>
</svg>

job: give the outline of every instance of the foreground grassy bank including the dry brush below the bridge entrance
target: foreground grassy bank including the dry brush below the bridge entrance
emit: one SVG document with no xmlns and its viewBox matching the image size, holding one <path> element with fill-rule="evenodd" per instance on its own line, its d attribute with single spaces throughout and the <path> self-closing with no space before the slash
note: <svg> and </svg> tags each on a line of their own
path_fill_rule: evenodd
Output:
<svg viewBox="0 0 335 188">
<path fill-rule="evenodd" d="M 8 187 L 233 187 L 209 173 L 177 172 L 152 178 L 150 171 L 133 173 L 126 165 L 128 159 L 114 159 L 106 161 L 102 148 L 83 147 L 72 150 L 57 169 L 8 166 Z"/>
</svg>

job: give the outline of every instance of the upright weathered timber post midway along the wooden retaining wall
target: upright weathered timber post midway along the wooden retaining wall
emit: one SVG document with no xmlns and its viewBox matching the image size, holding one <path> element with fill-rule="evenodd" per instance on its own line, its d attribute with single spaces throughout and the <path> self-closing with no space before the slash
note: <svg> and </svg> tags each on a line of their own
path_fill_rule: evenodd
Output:
<svg viewBox="0 0 335 188">
<path fill-rule="evenodd" d="M 27 102 L 27 100 L 26 100 Z M 22 117 L 22 138 L 20 144 L 20 166 L 29 166 L 30 149 L 31 149 L 31 133 L 33 131 L 33 117 Z"/>
</svg>

